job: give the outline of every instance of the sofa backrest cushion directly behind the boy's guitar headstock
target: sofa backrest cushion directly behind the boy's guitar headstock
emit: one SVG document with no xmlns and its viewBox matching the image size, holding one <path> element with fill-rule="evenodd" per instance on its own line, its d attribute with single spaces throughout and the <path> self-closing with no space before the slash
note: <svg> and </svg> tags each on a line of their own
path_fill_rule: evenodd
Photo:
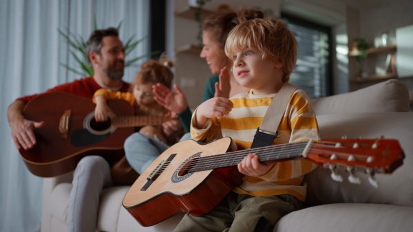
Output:
<svg viewBox="0 0 413 232">
<path fill-rule="evenodd" d="M 330 171 L 317 168 L 304 177 L 308 183 L 306 204 L 337 202 L 377 203 L 413 207 L 413 113 L 348 113 L 317 116 L 321 139 L 378 138 L 398 139 L 405 152 L 403 165 L 392 174 L 376 174 L 379 188 L 368 183 L 366 174 L 357 174 L 360 185 L 349 183 L 345 171 L 343 182 L 332 181 Z"/>
</svg>

